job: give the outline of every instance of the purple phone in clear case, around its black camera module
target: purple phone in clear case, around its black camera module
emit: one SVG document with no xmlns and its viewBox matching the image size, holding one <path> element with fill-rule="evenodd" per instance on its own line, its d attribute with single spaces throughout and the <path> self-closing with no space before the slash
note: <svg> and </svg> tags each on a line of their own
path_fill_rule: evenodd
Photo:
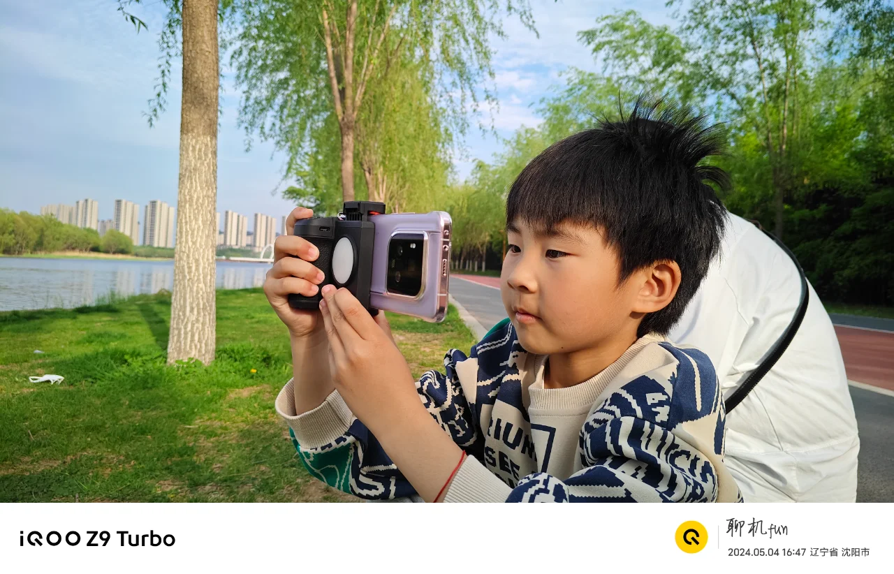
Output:
<svg viewBox="0 0 894 574">
<path fill-rule="evenodd" d="M 430 322 L 443 321 L 447 314 L 447 288 L 450 283 L 450 251 L 452 222 L 450 214 L 432 211 L 427 214 L 372 215 L 375 223 L 373 276 L 369 288 L 369 305 Z M 388 291 L 388 244 L 398 233 L 422 233 L 422 289 L 416 297 Z"/>
</svg>

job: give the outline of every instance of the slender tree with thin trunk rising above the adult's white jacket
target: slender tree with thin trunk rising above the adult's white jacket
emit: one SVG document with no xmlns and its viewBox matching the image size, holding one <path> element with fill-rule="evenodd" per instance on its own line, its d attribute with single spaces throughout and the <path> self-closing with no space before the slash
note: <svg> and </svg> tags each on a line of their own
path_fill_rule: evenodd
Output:
<svg viewBox="0 0 894 574">
<path fill-rule="evenodd" d="M 799 83 L 821 26 L 810 0 L 693 0 L 678 30 L 628 11 L 598 18 L 578 37 L 628 89 L 710 103 L 718 119 L 753 131 L 770 168 L 774 232 L 781 237 L 794 181 L 789 152 L 801 120 Z"/>
</svg>

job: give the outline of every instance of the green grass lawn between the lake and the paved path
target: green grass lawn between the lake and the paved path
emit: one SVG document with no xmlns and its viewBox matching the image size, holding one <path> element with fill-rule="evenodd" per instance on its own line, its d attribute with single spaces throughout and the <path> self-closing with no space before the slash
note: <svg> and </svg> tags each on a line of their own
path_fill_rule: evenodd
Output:
<svg viewBox="0 0 894 574">
<path fill-rule="evenodd" d="M 159 294 L 0 313 L 0 502 L 354 500 L 308 476 L 274 411 L 291 353 L 264 293 L 217 292 L 208 367 L 165 366 L 170 311 Z M 389 319 L 415 376 L 473 344 L 452 307 Z"/>
</svg>

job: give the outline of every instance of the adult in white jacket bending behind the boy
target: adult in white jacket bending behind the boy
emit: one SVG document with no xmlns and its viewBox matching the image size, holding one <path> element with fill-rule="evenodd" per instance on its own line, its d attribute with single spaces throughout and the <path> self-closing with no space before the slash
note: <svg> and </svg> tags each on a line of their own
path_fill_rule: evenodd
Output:
<svg viewBox="0 0 894 574">
<path fill-rule="evenodd" d="M 838 339 L 809 286 L 804 322 L 779 361 L 727 417 L 727 466 L 746 502 L 854 502 L 860 442 Z M 795 316 L 797 267 L 730 214 L 721 257 L 669 335 L 711 358 L 728 398 Z"/>
</svg>

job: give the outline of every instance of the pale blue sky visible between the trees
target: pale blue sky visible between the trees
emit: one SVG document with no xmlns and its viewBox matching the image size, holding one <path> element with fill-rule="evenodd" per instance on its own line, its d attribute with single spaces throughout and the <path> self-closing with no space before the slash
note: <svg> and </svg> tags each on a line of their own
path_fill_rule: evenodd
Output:
<svg viewBox="0 0 894 574">
<path fill-rule="evenodd" d="M 180 136 L 180 69 L 168 108 L 156 127 L 142 113 L 154 93 L 156 45 L 163 5 L 148 0 L 133 9 L 148 23 L 139 34 L 115 11 L 114 0 L 0 0 L 0 207 L 37 213 L 48 203 L 99 202 L 99 218 L 112 217 L 114 199 L 144 206 L 149 199 L 174 205 Z M 493 39 L 493 69 L 501 137 L 539 121 L 531 107 L 569 65 L 597 69 L 576 32 L 595 17 L 634 7 L 655 23 L 670 22 L 662 0 L 531 0 L 540 38 L 517 20 L 504 24 L 508 38 Z M 223 63 L 223 62 L 222 62 Z M 224 70 L 226 73 L 226 70 Z M 236 127 L 239 96 L 227 76 L 218 134 L 217 207 L 244 215 L 284 215 L 291 204 L 278 191 L 284 156 Z M 489 159 L 499 140 L 473 129 L 460 177 L 474 158 Z"/>
</svg>

